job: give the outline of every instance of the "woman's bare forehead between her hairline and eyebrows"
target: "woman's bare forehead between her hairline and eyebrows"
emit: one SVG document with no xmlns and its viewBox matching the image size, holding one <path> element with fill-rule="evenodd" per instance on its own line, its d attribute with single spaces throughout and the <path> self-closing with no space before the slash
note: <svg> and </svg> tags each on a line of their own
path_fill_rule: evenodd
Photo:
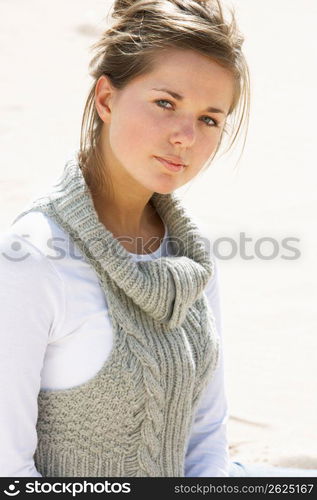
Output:
<svg viewBox="0 0 317 500">
<path fill-rule="evenodd" d="M 184 98 L 208 99 L 212 96 L 229 107 L 234 92 L 232 73 L 217 61 L 194 50 L 165 49 L 152 57 L 151 72 L 137 78 L 144 90 L 160 85 Z M 212 104 L 210 102 L 209 104 Z"/>
</svg>

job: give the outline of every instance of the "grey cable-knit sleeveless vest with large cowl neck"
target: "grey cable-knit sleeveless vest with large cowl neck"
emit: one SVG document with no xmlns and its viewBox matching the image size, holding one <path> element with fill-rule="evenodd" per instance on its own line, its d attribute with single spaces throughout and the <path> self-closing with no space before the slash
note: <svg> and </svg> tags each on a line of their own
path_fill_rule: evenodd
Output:
<svg viewBox="0 0 317 500">
<path fill-rule="evenodd" d="M 195 410 L 219 358 L 204 293 L 214 262 L 174 193 L 151 200 L 172 256 L 146 261 L 99 221 L 76 156 L 15 218 L 41 211 L 69 234 L 96 272 L 114 335 L 92 379 L 39 392 L 34 460 L 44 477 L 185 475 Z"/>
</svg>

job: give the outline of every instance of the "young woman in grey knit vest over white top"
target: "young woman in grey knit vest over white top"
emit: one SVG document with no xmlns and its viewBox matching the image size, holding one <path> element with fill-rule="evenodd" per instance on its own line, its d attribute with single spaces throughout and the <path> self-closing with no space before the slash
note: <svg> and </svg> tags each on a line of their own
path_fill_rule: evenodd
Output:
<svg viewBox="0 0 317 500">
<path fill-rule="evenodd" d="M 174 194 L 246 128 L 242 41 L 215 0 L 114 2 L 80 149 L 1 239 L 2 476 L 258 475 L 229 460 L 217 265 Z"/>
</svg>

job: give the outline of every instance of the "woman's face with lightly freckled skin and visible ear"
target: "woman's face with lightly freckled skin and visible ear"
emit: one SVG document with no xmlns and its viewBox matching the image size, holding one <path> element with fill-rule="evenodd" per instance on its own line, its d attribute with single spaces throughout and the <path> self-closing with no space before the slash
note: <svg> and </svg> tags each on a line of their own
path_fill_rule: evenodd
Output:
<svg viewBox="0 0 317 500">
<path fill-rule="evenodd" d="M 193 179 L 215 153 L 234 93 L 231 73 L 215 61 L 169 49 L 155 57 L 153 71 L 122 90 L 109 87 L 107 77 L 99 80 L 101 142 L 115 178 L 165 194 Z M 156 158 L 168 156 L 186 166 L 171 171 Z"/>
</svg>

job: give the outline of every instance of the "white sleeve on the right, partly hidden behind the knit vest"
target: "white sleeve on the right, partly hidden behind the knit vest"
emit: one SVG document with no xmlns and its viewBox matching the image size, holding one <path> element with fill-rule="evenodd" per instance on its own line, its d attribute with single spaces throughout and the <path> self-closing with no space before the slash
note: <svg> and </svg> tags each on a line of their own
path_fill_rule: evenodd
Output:
<svg viewBox="0 0 317 500">
<path fill-rule="evenodd" d="M 220 356 L 212 380 L 205 388 L 196 410 L 185 458 L 185 477 L 228 477 L 229 446 L 226 423 L 228 404 L 225 393 L 223 341 L 219 299 L 219 268 L 205 289 L 220 337 Z"/>
</svg>

